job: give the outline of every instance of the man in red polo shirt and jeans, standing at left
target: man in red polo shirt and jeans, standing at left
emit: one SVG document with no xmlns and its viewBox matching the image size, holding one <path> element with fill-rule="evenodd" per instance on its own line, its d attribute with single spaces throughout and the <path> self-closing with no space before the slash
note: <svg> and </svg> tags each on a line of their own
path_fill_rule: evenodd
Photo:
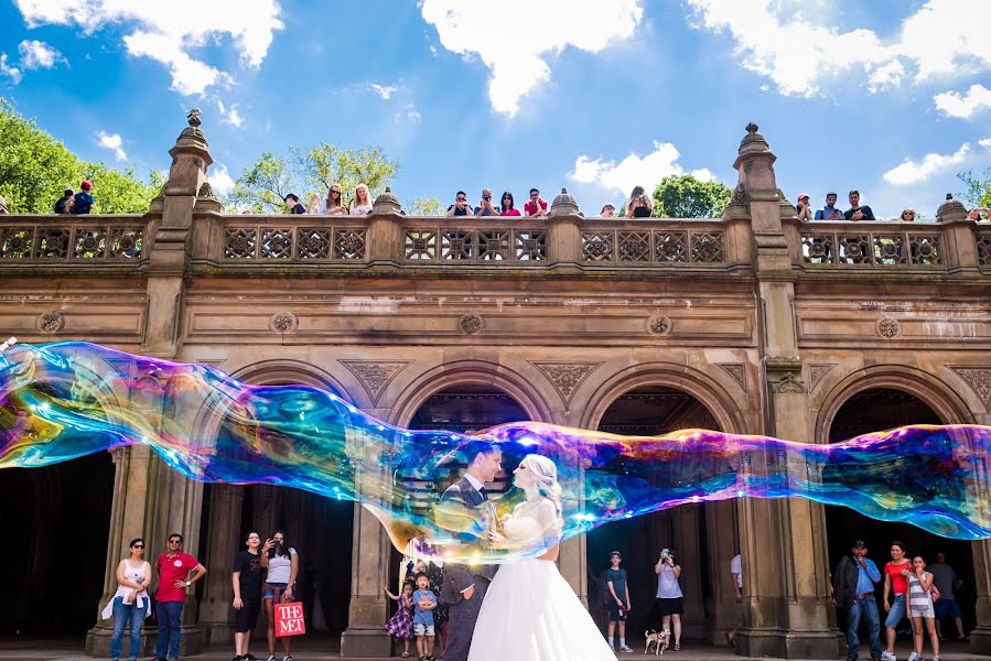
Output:
<svg viewBox="0 0 991 661">
<path fill-rule="evenodd" d="M 154 568 L 159 573 L 159 590 L 154 595 L 159 642 L 154 648 L 154 658 L 155 661 L 177 660 L 186 590 L 203 578 L 206 567 L 183 552 L 182 535 L 173 532 L 169 535 L 169 550 L 159 555 Z M 192 576 L 190 572 L 193 572 Z"/>
</svg>

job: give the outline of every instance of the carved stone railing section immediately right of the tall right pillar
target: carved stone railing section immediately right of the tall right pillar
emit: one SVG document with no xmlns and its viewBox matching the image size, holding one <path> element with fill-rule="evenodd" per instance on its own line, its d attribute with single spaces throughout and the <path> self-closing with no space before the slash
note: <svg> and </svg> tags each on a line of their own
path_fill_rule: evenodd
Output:
<svg viewBox="0 0 991 661">
<path fill-rule="evenodd" d="M 826 223 L 798 226 L 800 263 L 847 267 L 947 264 L 942 227 L 922 223 Z"/>
</svg>

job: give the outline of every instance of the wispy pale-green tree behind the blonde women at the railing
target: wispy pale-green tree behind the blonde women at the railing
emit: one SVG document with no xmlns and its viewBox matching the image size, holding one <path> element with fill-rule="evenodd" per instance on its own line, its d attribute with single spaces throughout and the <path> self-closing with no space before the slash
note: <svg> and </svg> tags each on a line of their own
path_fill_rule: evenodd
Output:
<svg viewBox="0 0 991 661">
<path fill-rule="evenodd" d="M 308 149 L 292 149 L 293 164 L 308 191 L 326 197 L 331 185 L 340 184 L 342 197 L 351 203 L 358 184 L 368 186 L 371 199 L 381 193 L 401 167 L 390 161 L 380 147 L 341 149 L 326 142 Z"/>
</svg>

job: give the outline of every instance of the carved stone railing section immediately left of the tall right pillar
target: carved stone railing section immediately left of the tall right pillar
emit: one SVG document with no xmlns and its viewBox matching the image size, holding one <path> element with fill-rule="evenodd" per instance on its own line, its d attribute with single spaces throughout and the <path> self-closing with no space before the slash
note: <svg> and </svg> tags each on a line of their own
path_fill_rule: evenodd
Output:
<svg viewBox="0 0 991 661">
<path fill-rule="evenodd" d="M 724 264 L 724 225 L 718 220 L 665 218 L 600 220 L 581 225 L 586 263 Z"/>
</svg>

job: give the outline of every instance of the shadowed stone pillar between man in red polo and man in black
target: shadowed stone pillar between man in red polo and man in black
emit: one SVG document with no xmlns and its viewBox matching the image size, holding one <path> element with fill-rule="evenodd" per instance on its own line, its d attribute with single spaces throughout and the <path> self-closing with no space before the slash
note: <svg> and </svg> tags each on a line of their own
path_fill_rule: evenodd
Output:
<svg viewBox="0 0 991 661">
<path fill-rule="evenodd" d="M 234 640 L 234 622 L 230 603 L 234 587 L 230 573 L 222 567 L 240 551 L 237 534 L 241 519 L 245 488 L 236 485 L 211 485 L 209 525 L 207 528 L 206 559 L 202 562 L 214 571 L 203 579 L 203 603 L 200 605 L 200 625 L 205 644 L 225 644 Z"/>
</svg>

